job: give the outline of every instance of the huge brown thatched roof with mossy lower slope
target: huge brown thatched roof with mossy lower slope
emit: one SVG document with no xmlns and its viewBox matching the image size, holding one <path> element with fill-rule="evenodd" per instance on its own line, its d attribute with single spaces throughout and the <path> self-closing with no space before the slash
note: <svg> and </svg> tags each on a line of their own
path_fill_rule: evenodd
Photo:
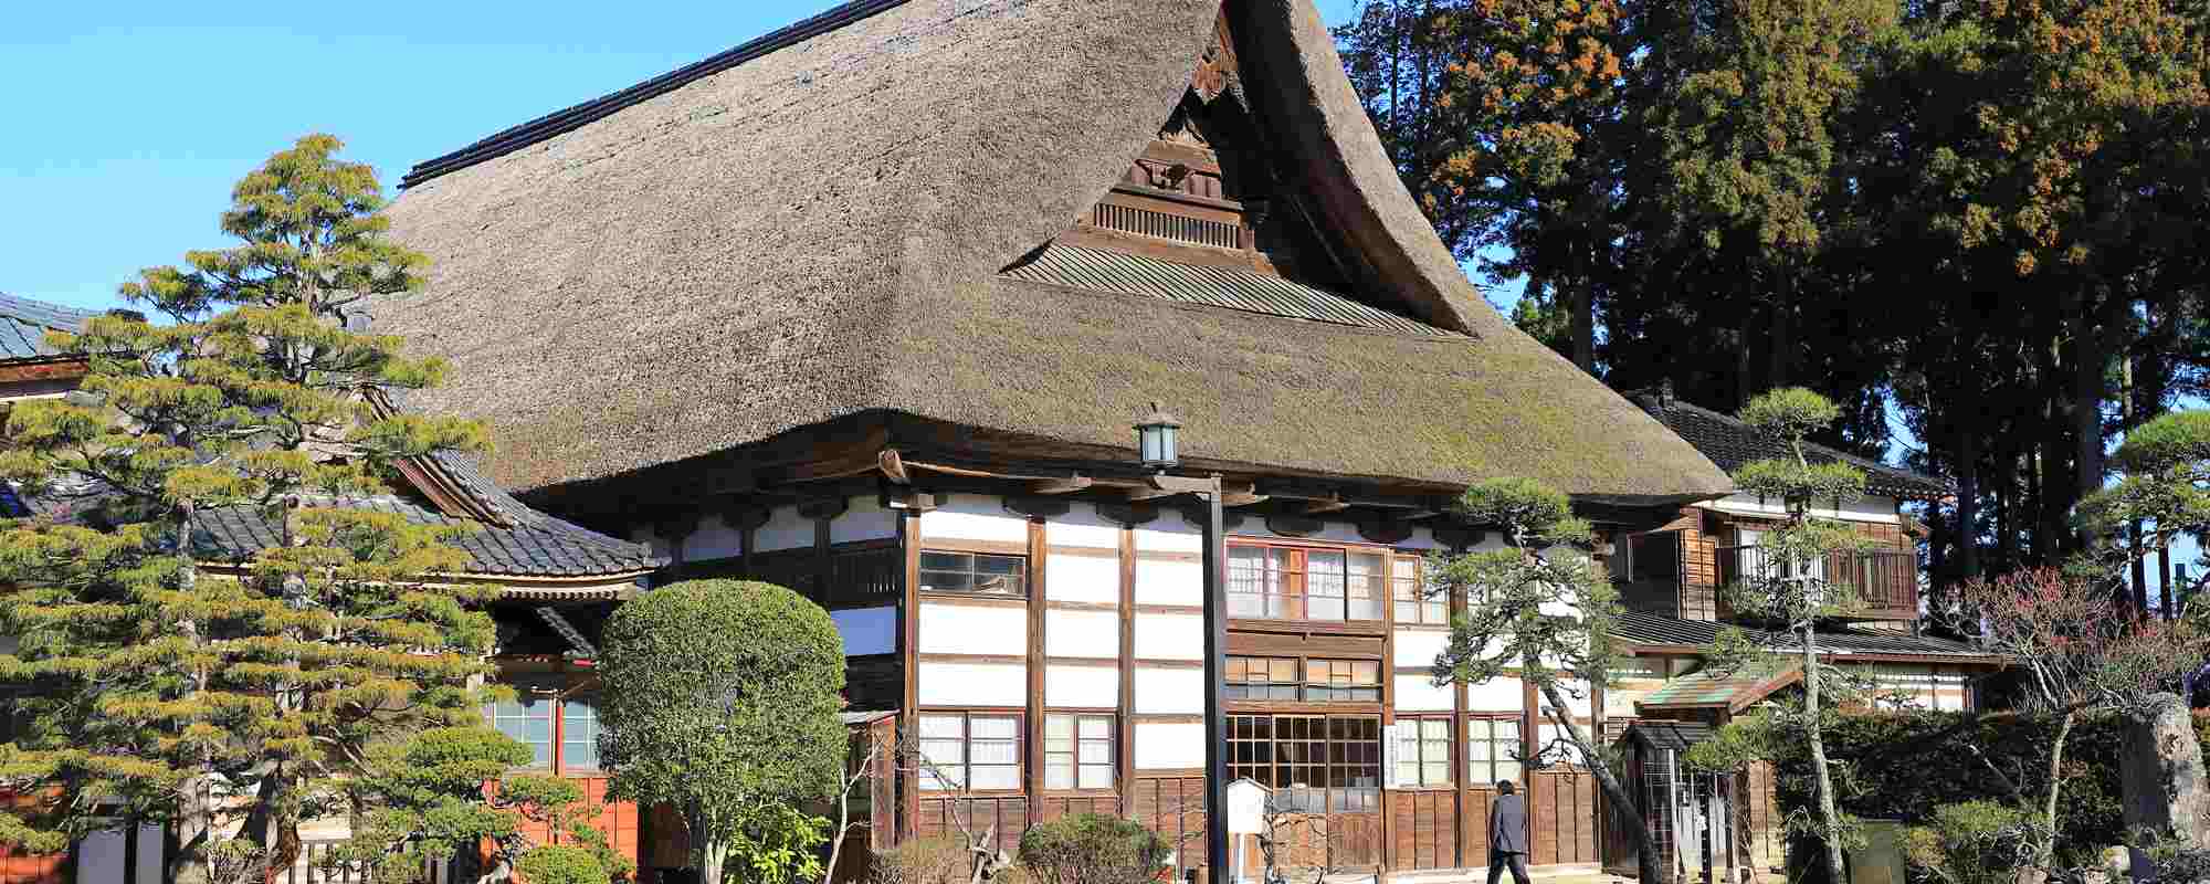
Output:
<svg viewBox="0 0 2210 884">
<path fill-rule="evenodd" d="M 488 418 L 522 493 L 862 411 L 1132 449 L 1151 400 L 1213 462 L 1616 499 L 1728 488 L 1465 281 L 1311 0 L 1229 0 L 1244 95 L 1383 281 L 1357 301 L 1428 329 L 1006 276 L 1158 135 L 1218 15 L 871 0 L 517 126 L 424 164 L 387 210 L 435 263 L 427 292 L 376 307 L 380 329 L 455 362 L 415 404 Z"/>
</svg>

